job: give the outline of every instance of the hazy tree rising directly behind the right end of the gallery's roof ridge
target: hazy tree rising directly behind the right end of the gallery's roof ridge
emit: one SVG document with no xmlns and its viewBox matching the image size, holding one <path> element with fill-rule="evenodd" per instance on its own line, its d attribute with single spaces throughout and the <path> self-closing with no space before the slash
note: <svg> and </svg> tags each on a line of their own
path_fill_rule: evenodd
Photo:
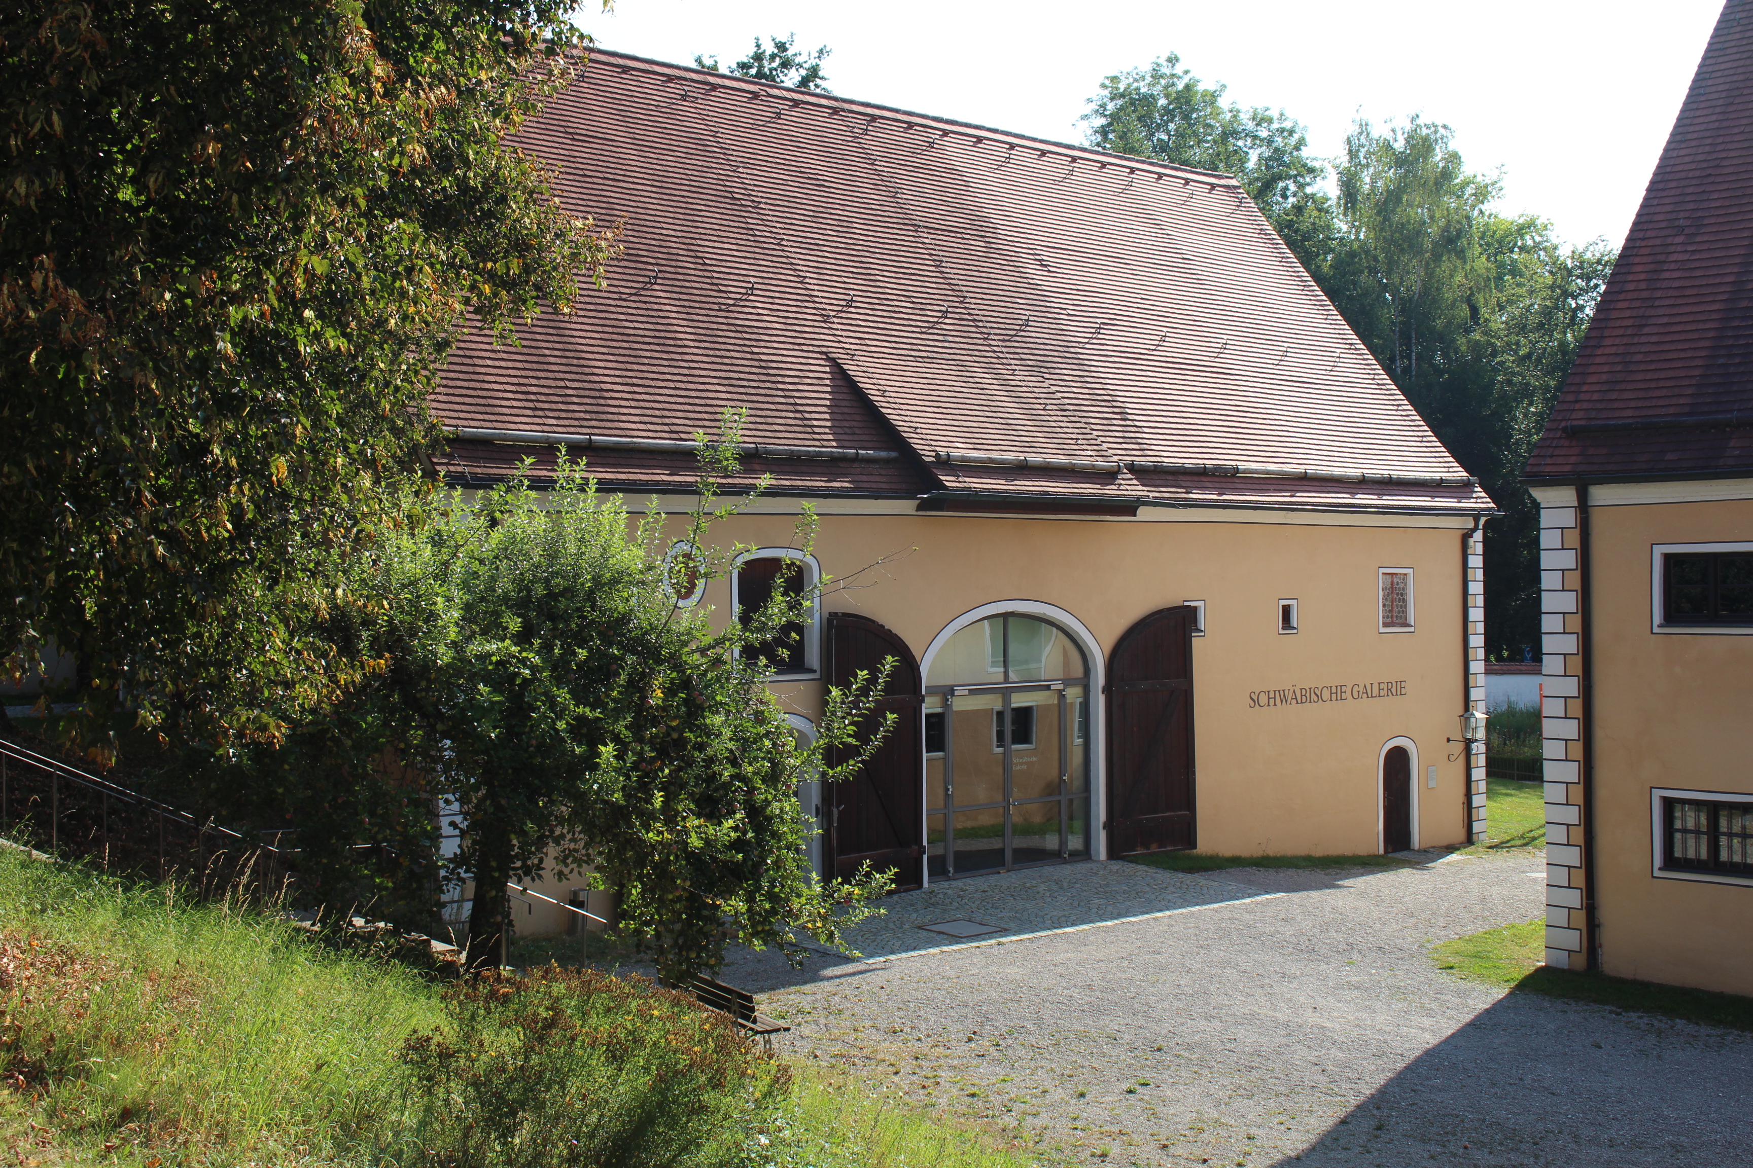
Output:
<svg viewBox="0 0 1753 1168">
<path fill-rule="evenodd" d="M 1299 256 L 1306 235 L 1322 235 L 1329 200 L 1325 168 L 1308 154 L 1308 135 L 1283 110 L 1224 102 L 1176 54 L 1103 79 L 1090 98 L 1089 144 L 1176 166 L 1236 175 L 1260 212 Z"/>
</svg>

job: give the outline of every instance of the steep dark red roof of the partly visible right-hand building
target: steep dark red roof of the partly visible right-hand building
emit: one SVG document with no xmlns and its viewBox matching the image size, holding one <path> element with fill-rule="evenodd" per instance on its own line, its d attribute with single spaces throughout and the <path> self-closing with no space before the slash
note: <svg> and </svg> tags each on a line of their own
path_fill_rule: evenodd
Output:
<svg viewBox="0 0 1753 1168">
<path fill-rule="evenodd" d="M 1753 469 L 1753 2 L 1728 0 L 1530 480 Z"/>
</svg>

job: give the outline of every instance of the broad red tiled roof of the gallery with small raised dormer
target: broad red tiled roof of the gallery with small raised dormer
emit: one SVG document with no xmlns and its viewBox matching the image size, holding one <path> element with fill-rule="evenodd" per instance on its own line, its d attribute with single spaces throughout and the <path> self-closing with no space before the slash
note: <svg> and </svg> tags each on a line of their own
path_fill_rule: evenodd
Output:
<svg viewBox="0 0 1753 1168">
<path fill-rule="evenodd" d="M 782 490 L 1490 506 L 1227 175 L 612 53 L 521 142 L 626 252 L 519 348 L 461 343 L 433 406 L 465 433 L 743 406 L 750 443 L 903 455 L 773 459 Z"/>
</svg>

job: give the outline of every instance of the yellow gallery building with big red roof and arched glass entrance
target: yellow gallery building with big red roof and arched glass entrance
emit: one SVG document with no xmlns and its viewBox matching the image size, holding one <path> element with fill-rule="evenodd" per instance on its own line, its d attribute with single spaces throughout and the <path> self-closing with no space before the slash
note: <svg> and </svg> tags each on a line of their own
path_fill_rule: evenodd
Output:
<svg viewBox="0 0 1753 1168">
<path fill-rule="evenodd" d="M 826 872 L 1483 834 L 1492 503 L 1234 179 L 610 53 L 522 142 L 626 254 L 456 352 L 442 469 L 564 443 L 680 513 L 749 412 L 733 487 L 773 485 L 717 536 L 757 552 L 703 602 L 766 595 L 808 501 L 852 585 L 773 690 L 808 732 L 901 662 L 878 762 L 806 799 Z"/>
</svg>

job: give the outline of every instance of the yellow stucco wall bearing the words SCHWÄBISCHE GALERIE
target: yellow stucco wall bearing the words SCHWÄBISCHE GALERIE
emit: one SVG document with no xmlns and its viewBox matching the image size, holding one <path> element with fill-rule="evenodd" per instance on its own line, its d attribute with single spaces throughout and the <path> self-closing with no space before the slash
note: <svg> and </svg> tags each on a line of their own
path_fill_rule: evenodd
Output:
<svg viewBox="0 0 1753 1168">
<path fill-rule="evenodd" d="M 1458 734 L 1464 707 L 1462 539 L 1471 524 L 1392 522 L 824 515 L 813 553 L 822 573 L 847 585 L 829 583 L 824 611 L 882 622 L 920 660 L 933 637 L 982 604 L 1020 599 L 1066 609 L 1106 660 L 1141 616 L 1204 601 L 1206 636 L 1194 639 L 1199 849 L 1357 855 L 1381 849 L 1378 763 L 1395 737 L 1416 748 L 1415 842 L 1466 842 L 1464 760 L 1450 760 L 1458 748 L 1446 739 Z M 794 524 L 794 515 L 742 515 L 717 525 L 712 543 L 789 546 Z M 673 534 L 684 532 L 675 518 Z M 1380 632 L 1380 567 L 1415 571 L 1413 632 Z M 1294 636 L 1278 632 L 1280 599 L 1299 601 Z M 729 583 L 708 587 L 701 602 L 724 618 Z M 1362 697 L 1362 686 L 1387 692 L 1397 683 L 1404 695 Z M 1266 706 L 1262 695 L 1250 706 L 1250 693 L 1292 686 L 1343 686 L 1346 700 Z M 820 681 L 773 688 L 787 711 L 817 716 Z M 566 897 L 552 886 L 542 891 Z M 561 926 L 559 909 L 517 909 L 522 935 Z"/>
</svg>

